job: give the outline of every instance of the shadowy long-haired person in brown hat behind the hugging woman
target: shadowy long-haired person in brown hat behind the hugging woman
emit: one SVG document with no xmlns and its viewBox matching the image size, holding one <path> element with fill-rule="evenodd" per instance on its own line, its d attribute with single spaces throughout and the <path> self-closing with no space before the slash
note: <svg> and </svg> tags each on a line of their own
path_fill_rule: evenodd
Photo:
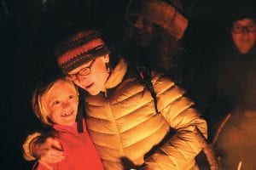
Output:
<svg viewBox="0 0 256 170">
<path fill-rule="evenodd" d="M 182 4 L 176 0 L 171 3 L 160 0 L 131 1 L 127 8 L 127 20 L 131 27 L 125 31 L 122 48 L 131 63 L 166 71 L 180 84 L 182 56 L 178 40 L 183 37 L 188 20 L 178 11 L 182 9 Z"/>
</svg>

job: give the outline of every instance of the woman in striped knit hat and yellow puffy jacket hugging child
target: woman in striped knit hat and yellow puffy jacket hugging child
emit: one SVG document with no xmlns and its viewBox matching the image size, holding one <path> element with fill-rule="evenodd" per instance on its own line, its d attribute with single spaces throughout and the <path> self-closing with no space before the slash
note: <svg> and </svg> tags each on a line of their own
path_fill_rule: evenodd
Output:
<svg viewBox="0 0 256 170">
<path fill-rule="evenodd" d="M 66 78 L 87 93 L 86 126 L 105 169 L 197 168 L 202 147 L 196 132 L 207 138 L 207 122 L 182 88 L 152 71 L 155 105 L 134 65 L 111 54 L 96 30 L 74 31 L 55 54 Z M 65 148 L 54 150 L 53 140 L 30 140 L 24 148 L 28 156 L 47 163 L 65 155 Z"/>
</svg>

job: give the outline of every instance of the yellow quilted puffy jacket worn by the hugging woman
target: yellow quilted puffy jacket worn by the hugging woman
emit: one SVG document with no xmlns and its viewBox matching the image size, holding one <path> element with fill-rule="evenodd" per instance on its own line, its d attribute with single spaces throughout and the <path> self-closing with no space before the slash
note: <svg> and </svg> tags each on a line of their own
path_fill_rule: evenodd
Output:
<svg viewBox="0 0 256 170">
<path fill-rule="evenodd" d="M 152 82 L 160 114 L 148 89 L 127 73 L 124 60 L 105 92 L 86 97 L 87 128 L 106 169 L 196 169 L 201 145 L 193 131 L 197 127 L 207 136 L 207 123 L 170 79 L 154 73 Z"/>
</svg>

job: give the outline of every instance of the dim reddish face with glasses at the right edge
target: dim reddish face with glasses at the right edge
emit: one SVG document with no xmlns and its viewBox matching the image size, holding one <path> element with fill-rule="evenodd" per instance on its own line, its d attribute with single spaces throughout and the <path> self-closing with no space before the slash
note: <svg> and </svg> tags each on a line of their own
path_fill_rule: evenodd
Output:
<svg viewBox="0 0 256 170">
<path fill-rule="evenodd" d="M 253 48 L 256 39 L 255 27 L 255 21 L 247 18 L 233 24 L 232 39 L 241 54 L 247 54 Z"/>
</svg>

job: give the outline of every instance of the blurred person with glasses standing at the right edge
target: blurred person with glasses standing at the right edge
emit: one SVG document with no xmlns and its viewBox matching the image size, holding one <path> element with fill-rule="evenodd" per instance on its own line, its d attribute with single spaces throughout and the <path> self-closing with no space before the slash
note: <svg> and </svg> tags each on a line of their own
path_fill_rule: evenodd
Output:
<svg viewBox="0 0 256 170">
<path fill-rule="evenodd" d="M 256 169 L 256 20 L 242 8 L 230 22 L 230 48 L 218 64 L 218 87 L 231 118 L 218 139 L 224 169 Z"/>
</svg>

